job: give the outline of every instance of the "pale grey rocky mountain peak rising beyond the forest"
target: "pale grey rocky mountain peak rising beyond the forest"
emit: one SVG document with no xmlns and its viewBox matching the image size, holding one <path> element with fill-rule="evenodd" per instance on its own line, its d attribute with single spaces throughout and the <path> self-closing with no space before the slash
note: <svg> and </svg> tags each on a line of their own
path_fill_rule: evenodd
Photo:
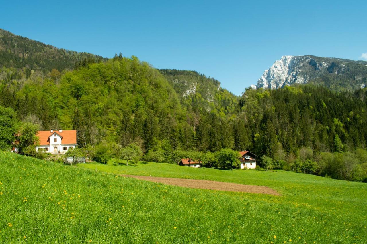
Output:
<svg viewBox="0 0 367 244">
<path fill-rule="evenodd" d="M 282 56 L 280 60 L 265 70 L 257 81 L 256 88 L 283 88 L 291 84 L 305 84 L 310 80 L 328 74 L 354 74 L 355 81 L 366 77 L 364 61 L 353 61 L 337 58 L 320 58 L 316 56 Z M 360 84 L 361 85 L 361 84 Z"/>
</svg>

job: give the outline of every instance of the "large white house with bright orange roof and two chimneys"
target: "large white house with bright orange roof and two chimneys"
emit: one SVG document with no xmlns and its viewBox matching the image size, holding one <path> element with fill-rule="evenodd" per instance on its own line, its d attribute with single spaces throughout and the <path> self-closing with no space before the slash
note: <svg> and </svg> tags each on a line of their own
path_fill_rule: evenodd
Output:
<svg viewBox="0 0 367 244">
<path fill-rule="evenodd" d="M 71 148 L 76 147 L 76 130 L 40 130 L 36 136 L 39 137 L 40 148 L 51 154 L 64 154 Z"/>
</svg>

